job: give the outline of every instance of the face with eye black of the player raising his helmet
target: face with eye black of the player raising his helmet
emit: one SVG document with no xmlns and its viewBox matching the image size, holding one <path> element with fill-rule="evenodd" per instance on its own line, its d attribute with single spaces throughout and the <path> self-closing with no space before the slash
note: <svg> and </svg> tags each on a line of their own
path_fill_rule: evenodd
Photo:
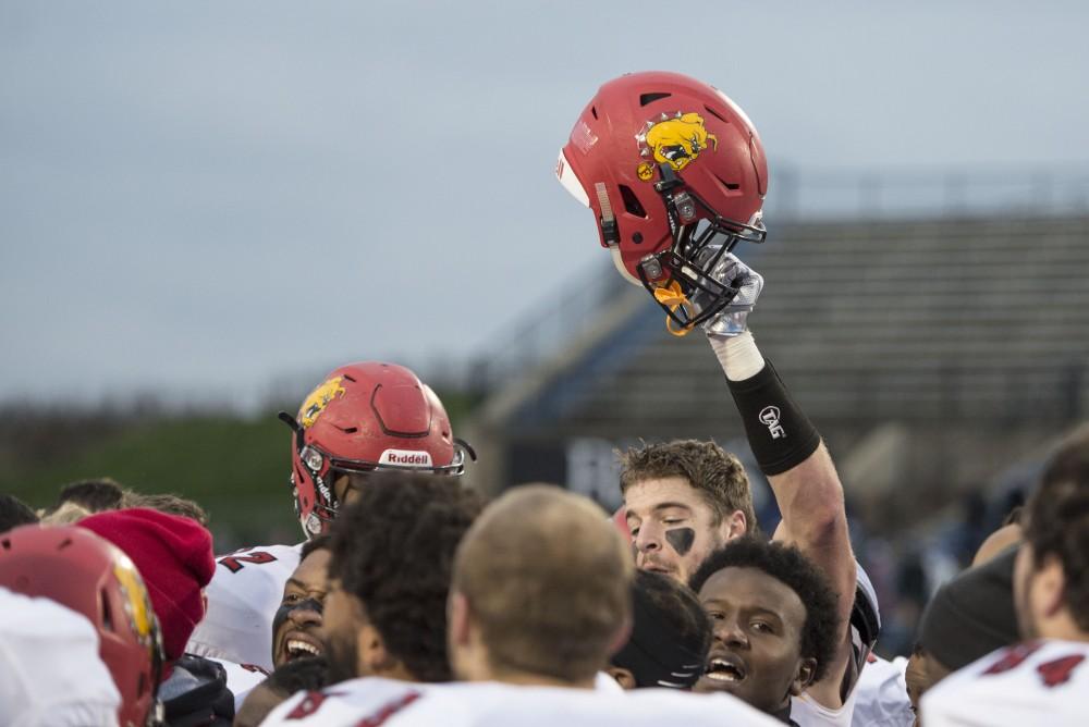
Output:
<svg viewBox="0 0 1089 727">
<path fill-rule="evenodd" d="M 635 565 L 682 583 L 727 540 L 729 525 L 683 477 L 644 480 L 624 493 Z"/>
</svg>

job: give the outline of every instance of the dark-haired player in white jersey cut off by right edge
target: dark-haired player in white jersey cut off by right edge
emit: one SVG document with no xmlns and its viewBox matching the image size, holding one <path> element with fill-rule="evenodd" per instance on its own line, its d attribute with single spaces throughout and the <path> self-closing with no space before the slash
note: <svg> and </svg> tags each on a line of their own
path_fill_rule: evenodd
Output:
<svg viewBox="0 0 1089 727">
<path fill-rule="evenodd" d="M 1049 458 L 1023 517 L 1014 565 L 1021 643 L 922 695 L 922 724 L 1089 724 L 1089 427 Z"/>
</svg>

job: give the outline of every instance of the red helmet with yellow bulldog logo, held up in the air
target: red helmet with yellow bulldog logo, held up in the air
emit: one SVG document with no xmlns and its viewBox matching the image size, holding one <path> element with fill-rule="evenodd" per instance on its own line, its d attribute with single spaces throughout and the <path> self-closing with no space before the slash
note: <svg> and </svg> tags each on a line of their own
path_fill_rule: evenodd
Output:
<svg viewBox="0 0 1089 727">
<path fill-rule="evenodd" d="M 713 274 L 724 255 L 766 236 L 768 162 L 752 122 L 722 91 L 677 73 L 632 73 L 598 89 L 555 174 L 594 210 L 621 274 L 683 331 L 737 294 Z M 698 305 L 677 305 L 689 298 Z"/>
</svg>

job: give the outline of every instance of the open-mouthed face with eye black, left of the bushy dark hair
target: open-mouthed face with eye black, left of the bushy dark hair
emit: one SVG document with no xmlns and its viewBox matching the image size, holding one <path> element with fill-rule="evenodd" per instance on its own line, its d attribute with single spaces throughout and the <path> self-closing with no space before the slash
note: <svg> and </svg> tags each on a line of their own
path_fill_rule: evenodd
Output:
<svg viewBox="0 0 1089 727">
<path fill-rule="evenodd" d="M 329 551 L 314 551 L 283 587 L 283 599 L 272 619 L 272 663 L 277 667 L 325 652 L 321 626 L 329 590 L 328 566 Z"/>
</svg>

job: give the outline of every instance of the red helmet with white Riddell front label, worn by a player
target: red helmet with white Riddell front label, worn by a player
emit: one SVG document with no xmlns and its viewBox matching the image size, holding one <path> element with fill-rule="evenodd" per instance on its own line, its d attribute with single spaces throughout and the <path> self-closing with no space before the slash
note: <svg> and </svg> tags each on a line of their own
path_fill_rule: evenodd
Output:
<svg viewBox="0 0 1089 727">
<path fill-rule="evenodd" d="M 442 402 L 395 364 L 363 361 L 337 369 L 306 397 L 294 430 L 291 483 L 307 538 L 326 532 L 340 503 L 338 475 L 408 469 L 458 476 L 472 447 L 453 436 Z"/>
</svg>

